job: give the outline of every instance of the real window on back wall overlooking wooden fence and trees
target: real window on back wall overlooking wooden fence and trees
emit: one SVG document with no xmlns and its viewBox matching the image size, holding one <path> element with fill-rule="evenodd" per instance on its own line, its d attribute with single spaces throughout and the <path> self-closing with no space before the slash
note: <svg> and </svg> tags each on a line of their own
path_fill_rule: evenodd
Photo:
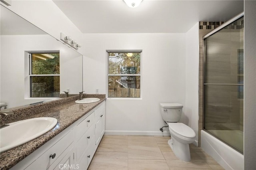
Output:
<svg viewBox="0 0 256 170">
<path fill-rule="evenodd" d="M 142 51 L 108 52 L 108 97 L 140 98 Z"/>
</svg>

